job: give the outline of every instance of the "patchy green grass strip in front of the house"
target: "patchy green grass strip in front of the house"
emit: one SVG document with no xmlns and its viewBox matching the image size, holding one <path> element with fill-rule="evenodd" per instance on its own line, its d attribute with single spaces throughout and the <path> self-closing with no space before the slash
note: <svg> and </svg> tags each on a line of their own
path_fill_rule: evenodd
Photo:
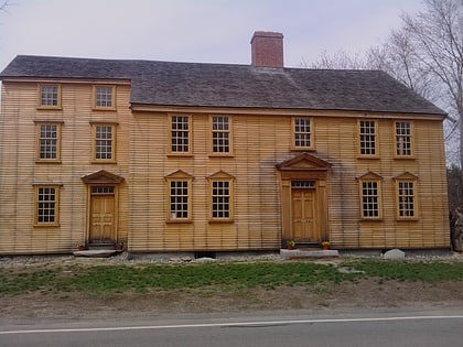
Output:
<svg viewBox="0 0 463 347">
<path fill-rule="evenodd" d="M 340 272 L 337 267 L 348 269 Z M 170 290 L 230 291 L 247 288 L 316 288 L 360 279 L 378 281 L 462 281 L 463 262 L 344 260 L 337 267 L 311 261 L 223 262 L 203 264 L 42 265 L 0 269 L 0 295 L 69 292 L 110 296 L 123 292 Z"/>
</svg>

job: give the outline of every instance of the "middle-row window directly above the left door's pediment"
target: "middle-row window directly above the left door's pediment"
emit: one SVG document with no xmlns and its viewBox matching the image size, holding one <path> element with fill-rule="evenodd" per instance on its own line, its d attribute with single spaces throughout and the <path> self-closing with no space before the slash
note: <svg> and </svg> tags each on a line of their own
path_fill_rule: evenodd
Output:
<svg viewBox="0 0 463 347">
<path fill-rule="evenodd" d="M 94 161 L 116 162 L 116 126 L 93 124 Z"/>
</svg>

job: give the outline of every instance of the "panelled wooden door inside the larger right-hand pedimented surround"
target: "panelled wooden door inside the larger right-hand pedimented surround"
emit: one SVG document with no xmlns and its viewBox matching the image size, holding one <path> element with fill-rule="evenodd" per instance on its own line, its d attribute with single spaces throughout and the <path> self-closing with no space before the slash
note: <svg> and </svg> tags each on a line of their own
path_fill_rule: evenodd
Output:
<svg viewBox="0 0 463 347">
<path fill-rule="evenodd" d="M 295 241 L 319 242 L 315 189 L 292 189 L 292 234 Z"/>
</svg>

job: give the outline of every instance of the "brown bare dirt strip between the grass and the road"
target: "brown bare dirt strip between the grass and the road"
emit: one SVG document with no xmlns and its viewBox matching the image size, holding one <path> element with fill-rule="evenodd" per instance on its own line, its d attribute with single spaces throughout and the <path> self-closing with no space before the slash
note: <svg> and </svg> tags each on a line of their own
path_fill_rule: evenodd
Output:
<svg viewBox="0 0 463 347">
<path fill-rule="evenodd" d="M 233 313 L 272 310 L 325 310 L 345 307 L 463 306 L 463 281 L 422 284 L 362 280 L 357 283 L 316 288 L 282 286 L 237 292 L 215 290 L 123 293 L 108 299 L 20 294 L 0 297 L 0 316 L 9 318 L 111 318 L 161 313 Z"/>
</svg>

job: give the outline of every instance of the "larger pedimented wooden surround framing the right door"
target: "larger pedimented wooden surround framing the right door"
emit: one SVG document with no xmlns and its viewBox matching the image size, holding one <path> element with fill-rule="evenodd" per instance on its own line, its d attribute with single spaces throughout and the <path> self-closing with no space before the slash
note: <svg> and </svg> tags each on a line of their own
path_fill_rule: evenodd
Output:
<svg viewBox="0 0 463 347">
<path fill-rule="evenodd" d="M 301 153 L 292 159 L 277 164 L 280 176 L 281 192 L 281 223 L 282 241 L 293 240 L 298 242 L 293 226 L 293 189 L 299 189 L 293 182 L 311 182 L 314 192 L 314 236 L 320 239 L 300 240 L 302 242 L 320 242 L 330 239 L 327 218 L 327 192 L 326 183 L 331 164 L 310 153 Z"/>
</svg>

